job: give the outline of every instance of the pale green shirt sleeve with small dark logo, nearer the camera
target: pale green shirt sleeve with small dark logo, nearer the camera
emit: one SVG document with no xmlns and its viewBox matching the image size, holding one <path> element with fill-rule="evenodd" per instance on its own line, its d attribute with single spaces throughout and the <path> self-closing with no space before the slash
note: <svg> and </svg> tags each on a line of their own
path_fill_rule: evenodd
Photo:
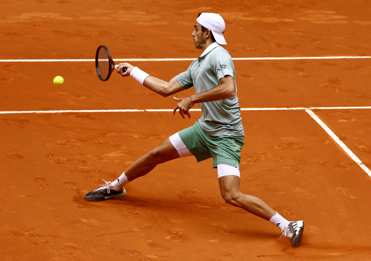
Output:
<svg viewBox="0 0 371 261">
<path fill-rule="evenodd" d="M 218 80 L 227 75 L 236 78 L 232 57 L 228 52 L 216 52 L 216 55 L 213 55 L 213 58 L 211 59 L 211 67 L 213 68 L 215 75 L 218 77 Z"/>
</svg>

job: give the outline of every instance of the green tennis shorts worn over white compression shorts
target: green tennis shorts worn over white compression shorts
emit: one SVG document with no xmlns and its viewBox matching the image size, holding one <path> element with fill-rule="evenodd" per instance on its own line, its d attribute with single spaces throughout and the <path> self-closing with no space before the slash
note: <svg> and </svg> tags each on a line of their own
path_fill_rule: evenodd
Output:
<svg viewBox="0 0 371 261">
<path fill-rule="evenodd" d="M 216 164 L 239 167 L 244 136 L 210 136 L 201 129 L 198 121 L 178 134 L 197 162 L 213 158 L 213 168 Z"/>
</svg>

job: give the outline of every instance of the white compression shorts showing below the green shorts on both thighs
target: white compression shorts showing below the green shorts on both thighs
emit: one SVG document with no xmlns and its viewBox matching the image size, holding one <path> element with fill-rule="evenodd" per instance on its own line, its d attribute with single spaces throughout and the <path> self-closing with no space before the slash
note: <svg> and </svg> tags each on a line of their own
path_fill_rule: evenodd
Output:
<svg viewBox="0 0 371 261">
<path fill-rule="evenodd" d="M 178 151 L 179 157 L 189 157 L 193 154 L 189 151 L 187 146 L 185 146 L 184 142 L 181 140 L 178 133 L 171 135 L 169 137 L 171 144 L 173 144 L 174 148 Z M 234 175 L 240 177 L 240 169 L 239 167 L 230 166 L 227 164 L 217 164 L 218 169 L 218 178 L 227 176 L 227 175 Z"/>
</svg>

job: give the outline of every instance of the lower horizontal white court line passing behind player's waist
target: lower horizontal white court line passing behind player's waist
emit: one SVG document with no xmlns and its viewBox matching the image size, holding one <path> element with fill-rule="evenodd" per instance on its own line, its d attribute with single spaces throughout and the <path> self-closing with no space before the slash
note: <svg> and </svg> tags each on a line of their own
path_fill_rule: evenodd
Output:
<svg viewBox="0 0 371 261">
<path fill-rule="evenodd" d="M 254 110 L 344 110 L 344 109 L 371 109 L 371 106 L 354 106 L 354 107 L 283 107 L 283 108 L 241 108 L 245 111 Z M 15 114 L 15 113 L 67 113 L 67 112 L 173 112 L 174 109 L 143 109 L 143 110 L 21 110 L 21 111 L 0 111 L 0 114 Z M 201 109 L 190 109 L 191 112 L 200 112 Z"/>
</svg>

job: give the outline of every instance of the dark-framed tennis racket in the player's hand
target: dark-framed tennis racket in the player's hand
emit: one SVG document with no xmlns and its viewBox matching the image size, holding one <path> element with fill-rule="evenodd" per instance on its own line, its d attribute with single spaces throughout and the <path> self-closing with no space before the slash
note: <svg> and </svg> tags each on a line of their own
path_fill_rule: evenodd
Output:
<svg viewBox="0 0 371 261">
<path fill-rule="evenodd" d="M 112 65 L 114 66 L 112 68 Z M 111 54 L 109 54 L 108 48 L 104 45 L 100 45 L 98 49 L 96 49 L 95 54 L 95 68 L 96 73 L 98 74 L 98 77 L 101 81 L 106 81 L 111 76 L 111 73 L 119 67 L 118 64 L 115 64 L 114 60 L 111 57 Z M 122 67 L 122 72 L 125 73 L 125 71 L 128 68 L 126 66 Z"/>
</svg>

